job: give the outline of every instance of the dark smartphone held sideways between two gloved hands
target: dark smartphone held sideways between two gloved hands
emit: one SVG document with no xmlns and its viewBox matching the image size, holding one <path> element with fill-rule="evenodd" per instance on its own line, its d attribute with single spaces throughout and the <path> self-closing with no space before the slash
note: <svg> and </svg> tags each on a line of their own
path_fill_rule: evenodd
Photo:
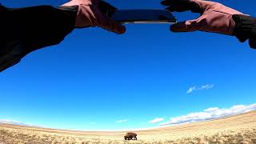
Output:
<svg viewBox="0 0 256 144">
<path fill-rule="evenodd" d="M 175 23 L 176 18 L 168 10 L 116 10 L 110 16 L 122 23 Z"/>
</svg>

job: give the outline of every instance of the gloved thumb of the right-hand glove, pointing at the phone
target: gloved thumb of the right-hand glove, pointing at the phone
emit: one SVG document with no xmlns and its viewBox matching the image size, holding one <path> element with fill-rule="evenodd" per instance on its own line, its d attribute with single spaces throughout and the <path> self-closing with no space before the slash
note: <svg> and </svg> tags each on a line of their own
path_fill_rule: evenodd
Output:
<svg viewBox="0 0 256 144">
<path fill-rule="evenodd" d="M 198 19 L 188 20 L 186 22 L 177 22 L 170 26 L 170 30 L 173 32 L 190 32 L 198 29 Z"/>
</svg>

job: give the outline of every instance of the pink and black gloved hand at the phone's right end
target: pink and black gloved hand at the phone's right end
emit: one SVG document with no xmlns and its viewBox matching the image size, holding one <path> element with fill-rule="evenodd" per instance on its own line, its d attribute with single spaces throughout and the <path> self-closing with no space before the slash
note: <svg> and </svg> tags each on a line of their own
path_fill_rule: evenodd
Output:
<svg viewBox="0 0 256 144">
<path fill-rule="evenodd" d="M 164 6 L 168 6 L 166 10 L 171 12 L 191 10 L 194 13 L 201 14 L 197 19 L 178 22 L 170 26 L 170 30 L 174 32 L 202 30 L 232 35 L 235 28 L 232 16 L 234 14 L 242 14 L 221 3 L 204 0 L 163 0 L 161 3 Z"/>
</svg>

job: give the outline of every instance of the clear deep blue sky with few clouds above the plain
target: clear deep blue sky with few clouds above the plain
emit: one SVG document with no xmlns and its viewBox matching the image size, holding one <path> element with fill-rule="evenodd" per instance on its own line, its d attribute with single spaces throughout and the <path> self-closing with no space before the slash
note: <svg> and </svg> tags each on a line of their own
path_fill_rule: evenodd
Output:
<svg viewBox="0 0 256 144">
<path fill-rule="evenodd" d="M 64 0 L 0 0 L 9 7 Z M 163 9 L 158 0 L 108 0 L 119 9 Z M 222 0 L 256 16 L 255 1 Z M 178 21 L 196 18 L 174 13 Z M 130 24 L 126 34 L 74 30 L 0 74 L 0 122 L 69 130 L 130 130 L 256 110 L 256 50 L 234 37 Z"/>
</svg>

